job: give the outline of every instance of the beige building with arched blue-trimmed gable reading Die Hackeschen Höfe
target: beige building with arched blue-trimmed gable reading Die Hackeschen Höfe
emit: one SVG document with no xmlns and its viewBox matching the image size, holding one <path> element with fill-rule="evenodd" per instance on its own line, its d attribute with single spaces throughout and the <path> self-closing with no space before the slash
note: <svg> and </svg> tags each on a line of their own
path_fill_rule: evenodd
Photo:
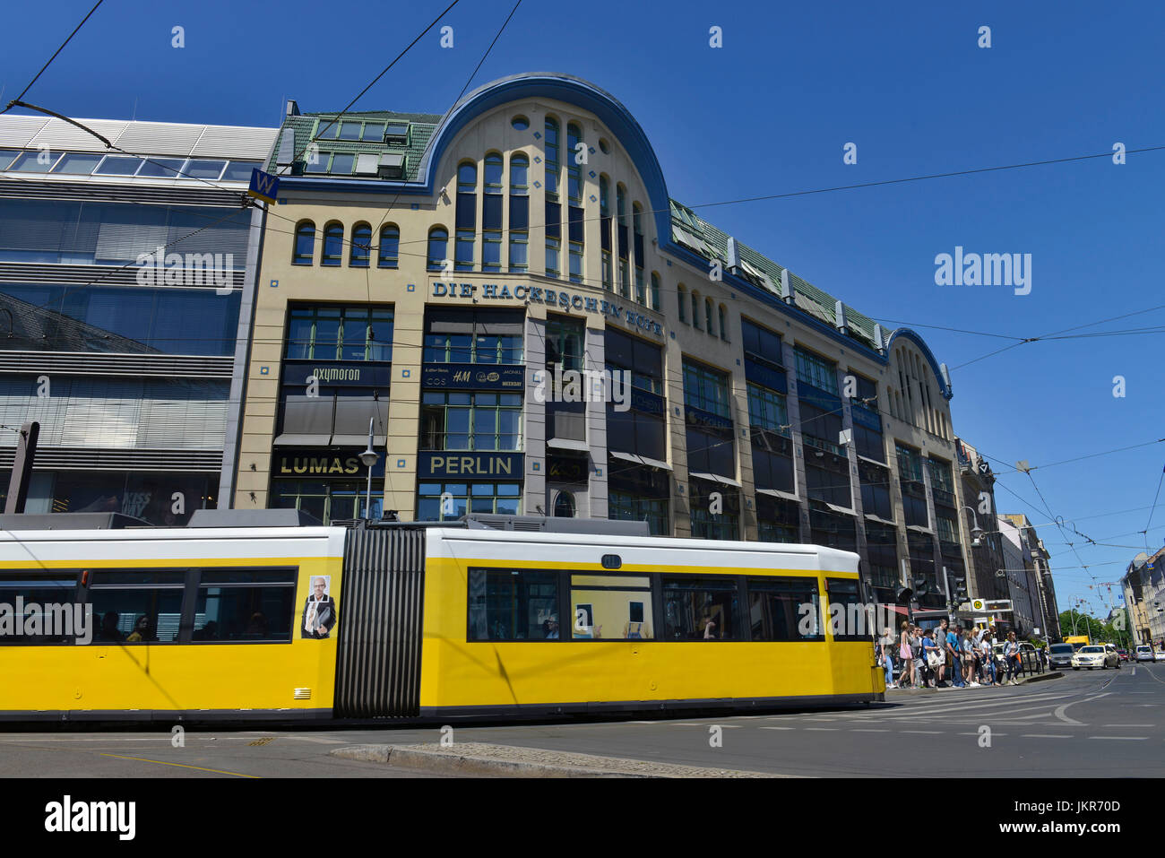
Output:
<svg viewBox="0 0 1165 858">
<path fill-rule="evenodd" d="M 946 368 L 672 199 L 605 91 L 289 103 L 269 169 L 235 507 L 363 515 L 370 422 L 373 516 L 813 542 L 930 607 L 966 574 Z"/>
</svg>

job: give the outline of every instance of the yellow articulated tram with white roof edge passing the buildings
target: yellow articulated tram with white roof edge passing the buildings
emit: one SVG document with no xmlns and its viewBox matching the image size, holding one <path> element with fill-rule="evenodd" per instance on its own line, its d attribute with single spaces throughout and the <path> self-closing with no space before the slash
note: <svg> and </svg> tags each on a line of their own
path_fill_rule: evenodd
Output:
<svg viewBox="0 0 1165 858">
<path fill-rule="evenodd" d="M 883 697 L 870 635 L 829 621 L 828 606 L 861 600 L 854 554 L 630 522 L 311 527 L 268 513 L 185 528 L 0 518 L 0 718 L 506 718 Z"/>
</svg>

